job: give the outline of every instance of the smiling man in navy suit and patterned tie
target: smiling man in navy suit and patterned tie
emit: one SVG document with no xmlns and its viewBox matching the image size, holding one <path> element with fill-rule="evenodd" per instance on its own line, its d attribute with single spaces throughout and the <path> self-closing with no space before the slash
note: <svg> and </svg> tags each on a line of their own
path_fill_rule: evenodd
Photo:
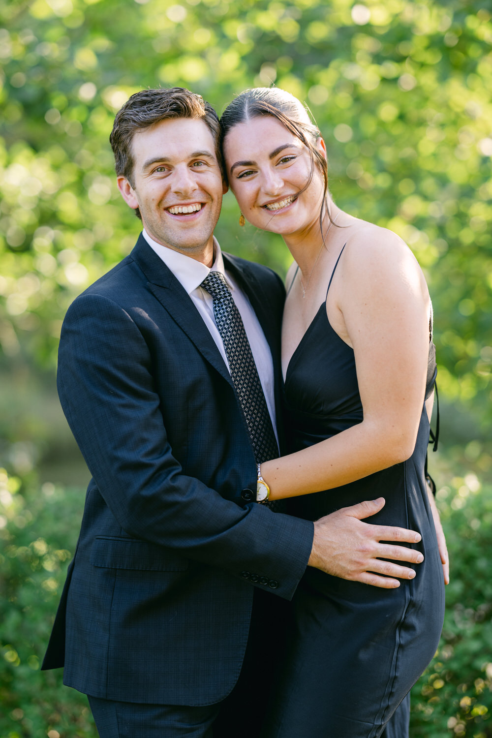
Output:
<svg viewBox="0 0 492 738">
<path fill-rule="evenodd" d="M 389 587 L 415 572 L 378 557 L 420 559 L 379 542 L 418 534 L 361 523 L 382 500 L 315 524 L 255 502 L 257 463 L 278 453 L 283 286 L 213 238 L 227 189 L 218 141 L 215 111 L 184 89 L 139 92 L 119 111 L 118 187 L 144 232 L 77 297 L 60 339 L 60 401 L 93 478 L 43 668 L 65 666 L 102 738 L 254 736 L 275 603 L 306 566 Z M 253 374 L 264 396 L 252 407 Z M 240 687 L 243 663 L 265 669 L 257 692 Z"/>
</svg>

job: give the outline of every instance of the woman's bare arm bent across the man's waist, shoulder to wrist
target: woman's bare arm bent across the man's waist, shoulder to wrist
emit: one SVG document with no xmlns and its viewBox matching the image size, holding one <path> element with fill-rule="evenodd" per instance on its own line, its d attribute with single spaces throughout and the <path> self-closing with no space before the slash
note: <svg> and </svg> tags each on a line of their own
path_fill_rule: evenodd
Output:
<svg viewBox="0 0 492 738">
<path fill-rule="evenodd" d="M 347 242 L 328 300 L 353 348 L 364 418 L 338 435 L 261 465 L 271 499 L 332 489 L 412 455 L 429 352 L 429 294 L 412 252 L 369 227 Z"/>
</svg>

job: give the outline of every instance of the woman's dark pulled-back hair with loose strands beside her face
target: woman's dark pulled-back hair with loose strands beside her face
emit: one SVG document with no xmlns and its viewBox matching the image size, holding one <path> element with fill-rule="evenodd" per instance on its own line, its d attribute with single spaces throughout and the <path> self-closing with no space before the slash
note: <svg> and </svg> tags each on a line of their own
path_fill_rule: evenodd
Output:
<svg viewBox="0 0 492 738">
<path fill-rule="evenodd" d="M 246 123 L 252 118 L 265 115 L 277 118 L 291 134 L 300 139 L 309 151 L 311 173 L 301 192 L 304 192 L 311 184 L 315 165 L 321 171 L 325 183 L 323 203 L 319 215 L 321 222 L 328 193 L 328 162 L 316 148 L 316 141 L 321 136 L 319 128 L 311 122 L 307 108 L 302 105 L 300 100 L 297 100 L 297 97 L 278 87 L 253 87 L 241 92 L 238 97 L 235 97 L 229 103 L 221 115 L 221 143 L 224 144 L 226 135 L 238 123 Z M 328 217 L 331 221 L 330 213 L 328 213 Z"/>
</svg>

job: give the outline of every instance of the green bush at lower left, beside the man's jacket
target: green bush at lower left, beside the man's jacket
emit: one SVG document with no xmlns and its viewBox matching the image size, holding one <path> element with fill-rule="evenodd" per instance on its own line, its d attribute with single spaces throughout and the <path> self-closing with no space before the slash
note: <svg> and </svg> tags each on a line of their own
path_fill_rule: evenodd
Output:
<svg viewBox="0 0 492 738">
<path fill-rule="evenodd" d="M 85 695 L 41 672 L 53 615 L 75 549 L 83 492 L 38 489 L 0 469 L 0 736 L 94 738 Z"/>
</svg>

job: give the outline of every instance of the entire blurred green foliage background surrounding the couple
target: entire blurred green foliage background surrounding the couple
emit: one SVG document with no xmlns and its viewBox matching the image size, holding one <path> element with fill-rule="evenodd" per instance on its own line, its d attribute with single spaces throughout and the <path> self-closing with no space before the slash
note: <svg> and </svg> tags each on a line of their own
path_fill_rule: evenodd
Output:
<svg viewBox="0 0 492 738">
<path fill-rule="evenodd" d="M 271 83 L 310 106 L 337 203 L 398 232 L 426 273 L 443 400 L 432 462 L 455 560 L 412 736 L 492 736 L 491 0 L 0 0 L 0 18 L 2 737 L 95 735 L 38 661 L 83 504 L 53 395 L 60 323 L 139 231 L 114 182 L 114 113 L 142 87 L 187 86 L 220 112 Z M 230 194 L 217 235 L 285 273 L 282 241 L 240 229 Z M 73 489 L 52 484 L 63 460 Z"/>
</svg>

